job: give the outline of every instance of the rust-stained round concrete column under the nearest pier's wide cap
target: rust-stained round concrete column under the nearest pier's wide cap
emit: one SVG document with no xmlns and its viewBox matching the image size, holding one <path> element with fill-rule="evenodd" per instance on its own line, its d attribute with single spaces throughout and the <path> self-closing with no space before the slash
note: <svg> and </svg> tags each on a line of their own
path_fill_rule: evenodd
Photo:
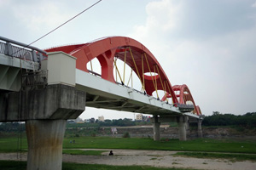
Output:
<svg viewBox="0 0 256 170">
<path fill-rule="evenodd" d="M 27 170 L 61 170 L 66 120 L 26 121 Z"/>
</svg>

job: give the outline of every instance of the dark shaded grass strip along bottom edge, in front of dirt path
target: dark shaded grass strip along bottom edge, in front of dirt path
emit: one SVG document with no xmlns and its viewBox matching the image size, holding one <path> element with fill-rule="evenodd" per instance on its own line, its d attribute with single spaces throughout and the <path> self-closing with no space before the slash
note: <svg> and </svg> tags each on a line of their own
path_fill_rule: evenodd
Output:
<svg viewBox="0 0 256 170">
<path fill-rule="evenodd" d="M 26 161 L 0 161 L 0 167 L 4 170 L 26 170 Z M 184 170 L 183 168 L 161 168 L 147 166 L 109 166 L 109 165 L 92 165 L 63 162 L 62 170 Z M 186 169 L 195 170 L 195 169 Z"/>
</svg>

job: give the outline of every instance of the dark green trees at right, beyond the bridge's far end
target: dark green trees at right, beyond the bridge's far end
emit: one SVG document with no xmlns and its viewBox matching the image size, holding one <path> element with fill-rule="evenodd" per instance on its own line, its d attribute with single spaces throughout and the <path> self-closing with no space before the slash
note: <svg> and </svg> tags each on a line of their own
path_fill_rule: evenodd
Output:
<svg viewBox="0 0 256 170">
<path fill-rule="evenodd" d="M 248 112 L 245 115 L 221 114 L 213 111 L 212 116 L 206 116 L 202 122 L 204 126 L 239 126 L 256 127 L 256 112 Z"/>
</svg>

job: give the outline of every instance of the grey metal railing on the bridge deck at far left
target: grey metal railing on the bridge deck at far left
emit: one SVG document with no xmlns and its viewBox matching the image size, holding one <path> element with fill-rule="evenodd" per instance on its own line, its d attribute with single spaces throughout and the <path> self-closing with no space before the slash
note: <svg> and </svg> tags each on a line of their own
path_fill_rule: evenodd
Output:
<svg viewBox="0 0 256 170">
<path fill-rule="evenodd" d="M 0 54 L 38 63 L 41 63 L 41 60 L 47 56 L 46 52 L 42 49 L 26 45 L 22 42 L 16 42 L 6 37 L 0 37 Z"/>
</svg>

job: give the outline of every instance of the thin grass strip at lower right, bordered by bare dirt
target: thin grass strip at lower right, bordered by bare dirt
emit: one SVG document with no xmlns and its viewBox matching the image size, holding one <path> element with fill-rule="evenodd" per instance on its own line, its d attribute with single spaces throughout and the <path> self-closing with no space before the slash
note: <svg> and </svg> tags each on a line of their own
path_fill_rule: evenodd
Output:
<svg viewBox="0 0 256 170">
<path fill-rule="evenodd" d="M 244 154 L 223 154 L 223 153 L 207 153 L 207 152 L 177 152 L 173 156 L 188 156 L 196 158 L 214 158 L 228 159 L 230 161 L 256 161 L 256 155 Z"/>
</svg>

